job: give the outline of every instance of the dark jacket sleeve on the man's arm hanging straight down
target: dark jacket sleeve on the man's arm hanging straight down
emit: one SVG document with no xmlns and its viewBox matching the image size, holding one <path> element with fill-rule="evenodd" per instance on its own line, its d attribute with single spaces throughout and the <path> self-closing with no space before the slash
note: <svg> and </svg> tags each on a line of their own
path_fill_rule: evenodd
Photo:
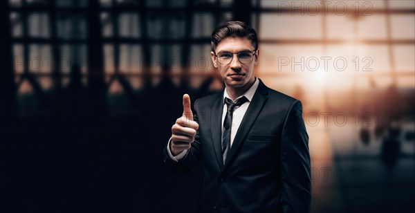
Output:
<svg viewBox="0 0 415 213">
<path fill-rule="evenodd" d="M 283 212 L 310 212 L 310 154 L 308 134 L 302 119 L 302 104 L 299 100 L 288 110 L 280 146 Z"/>
</svg>

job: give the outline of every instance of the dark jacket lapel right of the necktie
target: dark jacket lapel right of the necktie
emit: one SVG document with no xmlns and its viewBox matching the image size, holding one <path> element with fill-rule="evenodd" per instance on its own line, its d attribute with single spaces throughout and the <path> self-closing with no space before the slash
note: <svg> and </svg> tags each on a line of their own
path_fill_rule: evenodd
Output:
<svg viewBox="0 0 415 213">
<path fill-rule="evenodd" d="M 229 167 L 230 163 L 232 163 L 232 160 L 234 160 L 235 155 L 237 155 L 237 151 L 241 147 L 243 140 L 245 140 L 246 135 L 248 134 L 248 132 L 250 131 L 252 127 L 252 124 L 254 124 L 255 120 L 257 120 L 259 112 L 261 111 L 262 107 L 264 107 L 266 100 L 268 100 L 268 98 L 266 97 L 267 94 L 268 94 L 268 88 L 264 85 L 264 83 L 262 83 L 261 80 L 259 80 L 257 91 L 255 91 L 255 95 L 252 98 L 245 115 L 243 115 L 241 125 L 239 126 L 237 135 L 235 136 L 234 141 L 232 142 L 232 147 L 230 147 L 230 151 L 226 158 L 225 165 L 223 165 L 222 172 L 227 167 Z M 220 118 L 220 116 L 218 118 Z M 219 127 L 221 127 L 221 120 L 219 121 Z M 220 140 L 221 129 L 217 127 L 216 128 L 212 127 L 212 129 L 219 129 L 219 146 L 220 146 L 221 145 L 221 140 Z M 222 159 L 220 148 L 219 148 L 219 155 Z"/>
</svg>

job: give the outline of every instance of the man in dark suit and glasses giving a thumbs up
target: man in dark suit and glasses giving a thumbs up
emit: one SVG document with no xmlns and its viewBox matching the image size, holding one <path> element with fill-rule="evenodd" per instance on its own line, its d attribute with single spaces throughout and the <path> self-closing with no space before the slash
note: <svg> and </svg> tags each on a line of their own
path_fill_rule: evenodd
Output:
<svg viewBox="0 0 415 213">
<path fill-rule="evenodd" d="M 225 90 L 200 98 L 172 127 L 165 165 L 186 174 L 203 163 L 201 212 L 310 212 L 308 135 L 299 100 L 254 75 L 257 34 L 230 21 L 214 30 L 212 62 Z"/>
</svg>

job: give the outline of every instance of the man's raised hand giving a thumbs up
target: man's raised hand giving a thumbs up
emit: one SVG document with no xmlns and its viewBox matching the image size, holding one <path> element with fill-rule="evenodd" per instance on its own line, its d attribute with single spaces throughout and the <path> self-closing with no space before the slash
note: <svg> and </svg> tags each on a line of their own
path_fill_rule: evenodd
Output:
<svg viewBox="0 0 415 213">
<path fill-rule="evenodd" d="M 170 151 L 173 156 L 177 156 L 185 149 L 192 147 L 196 130 L 199 124 L 193 120 L 192 109 L 190 108 L 189 95 L 183 95 L 183 115 L 176 120 L 172 126 L 172 141 L 170 143 Z"/>
</svg>

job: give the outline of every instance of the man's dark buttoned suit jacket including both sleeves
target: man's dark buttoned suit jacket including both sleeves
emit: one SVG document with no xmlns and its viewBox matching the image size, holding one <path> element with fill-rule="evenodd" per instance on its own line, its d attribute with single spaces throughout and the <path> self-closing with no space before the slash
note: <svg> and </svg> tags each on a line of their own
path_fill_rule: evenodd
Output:
<svg viewBox="0 0 415 213">
<path fill-rule="evenodd" d="M 259 80 L 225 165 L 222 111 L 223 92 L 196 100 L 199 129 L 192 147 L 178 162 L 164 153 L 165 165 L 176 174 L 203 163 L 199 211 L 310 212 L 310 156 L 301 102 Z"/>
</svg>

